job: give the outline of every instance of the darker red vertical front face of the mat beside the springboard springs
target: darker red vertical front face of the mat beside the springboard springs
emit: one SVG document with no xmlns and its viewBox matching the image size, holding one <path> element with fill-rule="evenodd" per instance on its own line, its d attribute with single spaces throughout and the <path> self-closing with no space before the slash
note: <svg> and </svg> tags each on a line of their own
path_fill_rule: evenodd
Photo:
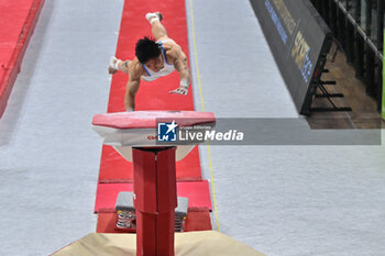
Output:
<svg viewBox="0 0 385 256">
<path fill-rule="evenodd" d="M 116 212 L 99 212 L 97 233 L 131 233 L 128 230 L 116 229 Z M 209 231 L 211 227 L 210 211 L 207 208 L 189 208 L 185 223 L 185 232 Z"/>
</svg>

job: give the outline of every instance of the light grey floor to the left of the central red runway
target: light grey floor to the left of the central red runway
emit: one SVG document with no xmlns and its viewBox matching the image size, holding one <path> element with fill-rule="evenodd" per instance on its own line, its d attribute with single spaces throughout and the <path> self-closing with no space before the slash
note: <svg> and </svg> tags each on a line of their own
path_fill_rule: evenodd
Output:
<svg viewBox="0 0 385 256">
<path fill-rule="evenodd" d="M 122 8 L 45 1 L 0 120 L 0 255 L 50 255 L 95 232 L 91 119 L 107 110 Z"/>
</svg>

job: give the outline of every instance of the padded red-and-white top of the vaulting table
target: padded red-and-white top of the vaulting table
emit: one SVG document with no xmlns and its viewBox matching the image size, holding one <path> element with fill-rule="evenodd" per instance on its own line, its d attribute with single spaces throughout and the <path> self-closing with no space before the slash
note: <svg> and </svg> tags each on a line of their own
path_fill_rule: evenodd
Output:
<svg viewBox="0 0 385 256">
<path fill-rule="evenodd" d="M 157 124 L 175 122 L 178 127 L 209 125 L 216 123 L 211 112 L 197 111 L 132 111 L 96 114 L 94 130 L 103 138 L 105 145 L 113 146 L 127 160 L 132 162 L 132 147 L 177 146 L 176 160 L 183 159 L 197 142 L 183 143 L 157 141 Z"/>
</svg>

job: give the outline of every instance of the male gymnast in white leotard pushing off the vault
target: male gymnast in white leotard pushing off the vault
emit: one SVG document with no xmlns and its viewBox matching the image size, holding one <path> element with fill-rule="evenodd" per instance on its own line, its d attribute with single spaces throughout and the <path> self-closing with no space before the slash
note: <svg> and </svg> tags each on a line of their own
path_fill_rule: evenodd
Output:
<svg viewBox="0 0 385 256">
<path fill-rule="evenodd" d="M 127 111 L 135 110 L 135 96 L 139 90 L 141 79 L 153 81 L 160 77 L 167 76 L 174 70 L 179 73 L 179 87 L 169 93 L 187 94 L 190 85 L 190 71 L 187 57 L 180 46 L 167 36 L 166 29 L 161 21 L 161 12 L 147 13 L 145 18 L 152 25 L 151 37 L 143 37 L 136 42 L 135 58 L 133 60 L 121 60 L 111 57 L 108 67 L 109 74 L 121 70 L 129 75 L 124 94 L 124 107 Z"/>
</svg>

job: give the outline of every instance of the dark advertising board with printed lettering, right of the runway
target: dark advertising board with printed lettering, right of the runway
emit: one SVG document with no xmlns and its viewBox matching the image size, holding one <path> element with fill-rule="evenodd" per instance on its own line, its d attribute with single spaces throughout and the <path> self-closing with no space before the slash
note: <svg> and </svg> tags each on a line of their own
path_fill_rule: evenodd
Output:
<svg viewBox="0 0 385 256">
<path fill-rule="evenodd" d="M 332 34 L 309 0 L 250 0 L 300 114 L 308 114 Z"/>
</svg>

